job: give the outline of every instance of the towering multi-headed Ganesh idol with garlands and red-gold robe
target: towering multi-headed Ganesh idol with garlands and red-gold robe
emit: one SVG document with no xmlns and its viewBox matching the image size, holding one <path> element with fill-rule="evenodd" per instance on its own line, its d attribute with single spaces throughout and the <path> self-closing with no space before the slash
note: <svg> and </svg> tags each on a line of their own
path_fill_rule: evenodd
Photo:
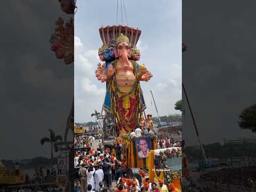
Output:
<svg viewBox="0 0 256 192">
<path fill-rule="evenodd" d="M 103 45 L 99 57 L 105 63 L 99 63 L 95 73 L 99 81 L 106 82 L 103 109 L 113 118 L 119 137 L 129 134 L 139 124 L 146 108 L 140 81 L 148 82 L 153 76 L 136 62 L 140 59 L 135 47 L 140 34 L 139 29 L 126 26 L 100 28 Z"/>
</svg>

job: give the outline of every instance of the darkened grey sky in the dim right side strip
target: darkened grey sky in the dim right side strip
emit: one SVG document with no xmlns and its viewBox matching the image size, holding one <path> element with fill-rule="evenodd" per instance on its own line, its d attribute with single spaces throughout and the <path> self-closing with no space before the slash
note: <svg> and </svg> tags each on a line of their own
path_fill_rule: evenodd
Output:
<svg viewBox="0 0 256 192">
<path fill-rule="evenodd" d="M 255 103 L 255 6 L 255 1 L 182 1 L 182 41 L 188 46 L 182 81 L 204 143 L 256 137 L 237 123 L 241 111 Z M 183 138 L 197 145 L 184 104 Z"/>
</svg>

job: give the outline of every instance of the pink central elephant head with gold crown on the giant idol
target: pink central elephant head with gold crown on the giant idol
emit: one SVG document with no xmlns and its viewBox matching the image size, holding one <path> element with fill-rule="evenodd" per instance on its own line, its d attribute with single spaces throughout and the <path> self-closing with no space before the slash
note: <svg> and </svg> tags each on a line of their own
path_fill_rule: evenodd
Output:
<svg viewBox="0 0 256 192">
<path fill-rule="evenodd" d="M 131 57 L 131 45 L 129 38 L 121 34 L 116 38 L 115 57 L 124 63 L 124 66 L 129 67 L 129 58 Z"/>
</svg>

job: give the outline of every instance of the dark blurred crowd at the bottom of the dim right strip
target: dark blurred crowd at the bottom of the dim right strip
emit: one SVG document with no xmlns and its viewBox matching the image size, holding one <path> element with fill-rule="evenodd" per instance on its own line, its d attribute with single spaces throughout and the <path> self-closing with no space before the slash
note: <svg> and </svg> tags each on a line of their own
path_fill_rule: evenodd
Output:
<svg viewBox="0 0 256 192">
<path fill-rule="evenodd" d="M 246 177 L 245 177 L 246 175 Z M 222 168 L 201 175 L 199 182 L 213 182 L 215 185 L 234 185 L 247 188 L 256 187 L 256 166 Z"/>
</svg>

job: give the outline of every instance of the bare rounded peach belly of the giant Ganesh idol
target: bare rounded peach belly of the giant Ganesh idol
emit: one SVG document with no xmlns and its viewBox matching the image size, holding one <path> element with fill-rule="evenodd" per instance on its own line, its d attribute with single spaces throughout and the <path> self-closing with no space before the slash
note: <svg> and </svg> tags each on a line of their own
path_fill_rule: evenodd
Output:
<svg viewBox="0 0 256 192">
<path fill-rule="evenodd" d="M 135 75 L 133 74 L 132 71 L 122 71 L 122 73 L 120 71 L 116 74 L 116 85 L 118 86 L 120 91 L 122 91 L 122 88 L 126 88 L 125 90 L 131 88 L 134 82 Z"/>
</svg>

